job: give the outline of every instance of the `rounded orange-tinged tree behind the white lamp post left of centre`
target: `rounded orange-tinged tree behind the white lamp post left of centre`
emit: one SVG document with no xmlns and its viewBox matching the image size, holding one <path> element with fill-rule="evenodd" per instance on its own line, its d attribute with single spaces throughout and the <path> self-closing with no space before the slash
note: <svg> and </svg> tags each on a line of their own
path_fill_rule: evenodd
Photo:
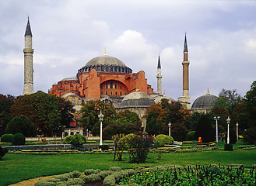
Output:
<svg viewBox="0 0 256 186">
<path fill-rule="evenodd" d="M 104 115 L 103 117 L 103 128 L 114 122 L 116 115 L 114 106 L 105 105 L 104 102 L 89 101 L 82 105 L 80 114 L 80 124 L 93 133 L 94 136 L 100 134 L 100 121 L 98 115 L 100 115 L 100 109 Z"/>
</svg>

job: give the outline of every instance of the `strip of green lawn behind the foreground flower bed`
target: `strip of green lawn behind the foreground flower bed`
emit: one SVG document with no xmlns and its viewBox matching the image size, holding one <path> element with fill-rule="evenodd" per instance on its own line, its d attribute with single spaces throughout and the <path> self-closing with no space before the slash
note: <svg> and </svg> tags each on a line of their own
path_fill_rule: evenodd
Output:
<svg viewBox="0 0 256 186">
<path fill-rule="evenodd" d="M 155 167 L 163 164 L 209 165 L 209 164 L 244 164 L 250 167 L 256 164 L 256 150 L 215 150 L 195 153 L 163 153 L 157 160 L 157 153 L 149 153 L 145 164 L 129 164 L 128 154 L 123 161 L 113 161 L 113 154 L 72 154 L 72 155 L 23 155 L 7 153 L 0 161 L 0 185 L 14 184 L 33 177 L 63 174 L 70 171 L 86 169 L 107 170 L 119 166 L 132 168 L 136 166 Z"/>
</svg>

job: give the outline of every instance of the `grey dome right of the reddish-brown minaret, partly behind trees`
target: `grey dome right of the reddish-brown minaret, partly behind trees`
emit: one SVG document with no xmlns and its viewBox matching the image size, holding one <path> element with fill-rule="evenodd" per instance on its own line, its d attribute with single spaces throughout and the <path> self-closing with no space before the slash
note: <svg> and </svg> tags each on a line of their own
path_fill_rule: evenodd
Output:
<svg viewBox="0 0 256 186">
<path fill-rule="evenodd" d="M 192 105 L 193 108 L 213 108 L 218 97 L 216 95 L 202 95 L 195 100 Z"/>
</svg>

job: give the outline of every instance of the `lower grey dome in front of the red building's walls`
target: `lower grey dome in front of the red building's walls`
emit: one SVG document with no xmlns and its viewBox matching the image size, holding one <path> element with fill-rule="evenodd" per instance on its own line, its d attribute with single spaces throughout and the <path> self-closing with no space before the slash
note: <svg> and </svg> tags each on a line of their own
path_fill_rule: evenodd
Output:
<svg viewBox="0 0 256 186">
<path fill-rule="evenodd" d="M 118 107 L 149 107 L 152 104 L 155 104 L 155 102 L 149 95 L 141 91 L 134 91 L 126 95 Z"/>
</svg>

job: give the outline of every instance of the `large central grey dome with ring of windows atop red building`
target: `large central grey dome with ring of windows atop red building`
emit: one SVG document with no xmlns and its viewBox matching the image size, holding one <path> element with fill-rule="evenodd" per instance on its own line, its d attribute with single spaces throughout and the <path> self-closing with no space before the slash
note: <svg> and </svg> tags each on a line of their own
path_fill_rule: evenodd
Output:
<svg viewBox="0 0 256 186">
<path fill-rule="evenodd" d="M 82 72 L 89 72 L 93 68 L 96 69 L 96 71 L 98 72 L 105 73 L 132 73 L 132 69 L 125 66 L 125 64 L 121 60 L 118 60 L 115 57 L 104 55 L 89 60 L 84 67 L 79 69 L 77 75 L 79 75 Z"/>
</svg>

